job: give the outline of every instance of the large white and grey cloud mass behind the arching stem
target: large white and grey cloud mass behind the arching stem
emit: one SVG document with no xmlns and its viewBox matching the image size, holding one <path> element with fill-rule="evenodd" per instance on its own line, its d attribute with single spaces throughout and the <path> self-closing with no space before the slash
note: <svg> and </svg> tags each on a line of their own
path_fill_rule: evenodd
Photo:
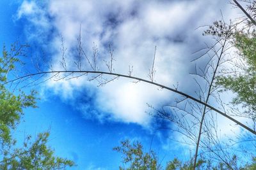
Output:
<svg viewBox="0 0 256 170">
<path fill-rule="evenodd" d="M 86 55 L 92 55 L 93 43 L 99 50 L 98 66 L 107 69 L 103 61 L 108 60 L 108 45 L 114 49 L 116 73 L 127 74 L 129 66 L 132 75 L 148 79 L 152 66 L 154 47 L 156 50 L 156 81 L 172 86 L 179 81 L 180 90 L 193 94 L 196 86 L 189 72 L 193 69 L 190 60 L 192 52 L 202 48 L 211 39 L 201 36 L 195 29 L 211 24 L 223 16 L 229 18 L 229 4 L 223 1 L 69 1 L 52 0 L 47 3 L 24 1 L 17 18 L 26 18 L 34 32 L 29 36 L 47 39 L 47 50 L 52 52 L 54 69 L 62 69 L 61 38 L 67 47 L 67 67 L 74 69 L 77 37 L 81 29 L 82 43 Z M 52 32 L 54 30 L 54 32 Z M 44 42 L 45 43 L 45 42 Z M 195 57 L 195 56 L 194 56 Z M 100 62 L 101 61 L 101 62 Z M 90 69 L 85 64 L 84 69 Z M 132 83 L 118 78 L 109 85 L 97 88 L 96 81 L 86 76 L 70 81 L 48 81 L 47 88 L 65 100 L 75 101 L 84 117 L 137 123 L 147 126 L 151 117 L 147 103 L 161 106 L 171 101 L 173 94 L 145 83 Z M 90 89 L 90 90 L 88 90 Z M 81 101 L 79 92 L 86 90 L 88 99 Z M 79 99 L 77 99 L 79 98 Z M 104 115 L 105 114 L 105 115 Z"/>
</svg>

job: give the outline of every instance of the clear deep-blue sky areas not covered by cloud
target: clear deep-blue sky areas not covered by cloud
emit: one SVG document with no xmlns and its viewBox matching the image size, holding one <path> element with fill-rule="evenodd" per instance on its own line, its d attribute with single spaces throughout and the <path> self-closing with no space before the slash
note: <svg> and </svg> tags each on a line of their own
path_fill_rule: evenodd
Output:
<svg viewBox="0 0 256 170">
<path fill-rule="evenodd" d="M 20 3 L 1 1 L 4 10 L 0 13 L 1 43 L 10 46 L 17 38 L 20 42 L 34 42 L 26 38 L 26 21 L 15 20 Z M 29 43 L 30 44 L 30 43 Z M 31 45 L 33 49 L 40 47 Z M 32 50 L 31 50 L 32 51 Z M 31 56 L 29 56 L 31 57 Z M 84 94 L 86 95 L 86 94 Z M 86 101 L 90 103 L 90 99 Z M 152 146 L 159 150 L 158 143 L 162 141 L 138 124 L 122 122 L 100 122 L 99 120 L 84 118 L 81 111 L 76 110 L 56 95 L 47 96 L 47 99 L 38 101 L 38 108 L 28 109 L 24 112 L 22 122 L 15 133 L 21 141 L 24 136 L 36 136 L 38 132 L 50 129 L 49 145 L 54 148 L 56 155 L 67 157 L 76 162 L 74 169 L 116 169 L 120 165 L 120 154 L 112 150 L 123 139 L 138 139 L 148 149 L 151 139 Z M 168 158 L 167 152 L 161 153 Z"/>
</svg>

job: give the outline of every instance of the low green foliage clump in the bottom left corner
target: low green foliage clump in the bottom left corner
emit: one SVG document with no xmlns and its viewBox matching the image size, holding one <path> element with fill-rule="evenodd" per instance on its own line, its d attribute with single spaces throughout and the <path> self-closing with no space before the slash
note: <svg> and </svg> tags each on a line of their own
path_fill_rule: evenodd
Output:
<svg viewBox="0 0 256 170">
<path fill-rule="evenodd" d="M 4 157 L 0 169 L 65 169 L 74 166 L 71 160 L 54 157 L 54 151 L 47 147 L 49 132 L 40 133 L 34 143 L 31 136 L 24 142 L 24 147 L 15 149 L 10 157 Z"/>
</svg>

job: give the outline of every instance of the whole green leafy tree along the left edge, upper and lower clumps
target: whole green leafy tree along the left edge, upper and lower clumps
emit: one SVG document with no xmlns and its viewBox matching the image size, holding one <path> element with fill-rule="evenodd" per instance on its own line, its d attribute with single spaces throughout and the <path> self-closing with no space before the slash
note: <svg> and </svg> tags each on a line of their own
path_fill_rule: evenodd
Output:
<svg viewBox="0 0 256 170">
<path fill-rule="evenodd" d="M 15 43 L 10 52 L 3 47 L 0 58 L 0 81 L 8 81 L 8 73 L 15 71 L 15 64 L 20 62 L 27 45 Z M 22 148 L 15 146 L 16 139 L 12 132 L 19 125 L 24 108 L 36 107 L 36 92 L 26 94 L 22 90 L 10 92 L 0 86 L 0 169 L 65 169 L 74 166 L 74 162 L 54 156 L 54 151 L 47 146 L 49 132 L 38 134 L 35 142 L 31 136 L 26 138 Z"/>
</svg>

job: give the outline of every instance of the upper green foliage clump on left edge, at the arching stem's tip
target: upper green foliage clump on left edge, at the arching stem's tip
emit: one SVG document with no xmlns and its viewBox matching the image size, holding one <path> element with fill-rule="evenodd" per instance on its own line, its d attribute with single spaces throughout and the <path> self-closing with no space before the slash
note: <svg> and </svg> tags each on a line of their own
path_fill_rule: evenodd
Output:
<svg viewBox="0 0 256 170">
<path fill-rule="evenodd" d="M 1 84 L 7 81 L 8 73 L 13 71 L 15 63 L 19 62 L 17 57 L 19 57 L 21 49 L 17 51 L 15 45 L 12 45 L 11 52 L 8 53 L 4 46 L 3 57 L 0 58 Z M 19 124 L 20 117 L 23 115 L 23 109 L 36 107 L 35 94 L 35 91 L 31 91 L 30 94 L 20 91 L 18 95 L 15 95 L 3 85 L 0 86 L 0 141 L 2 148 L 13 142 L 10 132 Z"/>
</svg>

